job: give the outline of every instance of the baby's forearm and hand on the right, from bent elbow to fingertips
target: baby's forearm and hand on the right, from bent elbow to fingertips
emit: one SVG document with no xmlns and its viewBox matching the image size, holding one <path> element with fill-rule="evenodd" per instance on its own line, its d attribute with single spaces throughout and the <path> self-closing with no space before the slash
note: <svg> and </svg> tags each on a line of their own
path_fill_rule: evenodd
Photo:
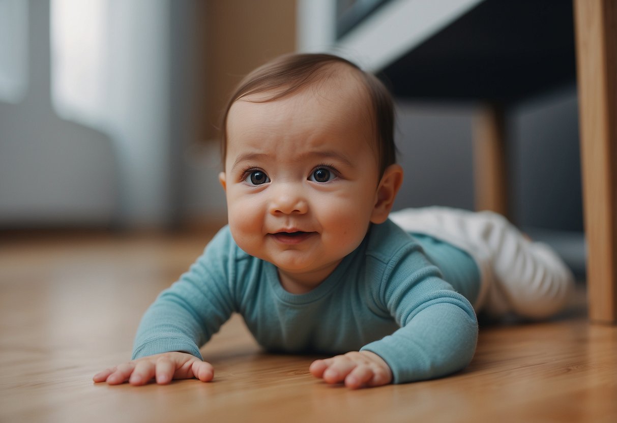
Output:
<svg viewBox="0 0 617 423">
<path fill-rule="evenodd" d="M 469 364 L 476 347 L 478 326 L 470 309 L 452 303 L 431 305 L 394 334 L 360 351 L 313 361 L 309 371 L 329 384 L 354 389 L 458 371 Z"/>
</svg>

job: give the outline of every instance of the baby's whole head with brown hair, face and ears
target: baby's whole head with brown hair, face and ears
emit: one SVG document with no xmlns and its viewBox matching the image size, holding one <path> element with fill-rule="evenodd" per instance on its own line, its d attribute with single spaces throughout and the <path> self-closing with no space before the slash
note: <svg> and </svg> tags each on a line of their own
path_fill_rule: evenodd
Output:
<svg viewBox="0 0 617 423">
<path fill-rule="evenodd" d="M 333 55 L 280 57 L 234 92 L 220 174 L 231 234 L 288 290 L 323 281 L 387 219 L 402 181 L 393 120 L 383 84 Z"/>
</svg>

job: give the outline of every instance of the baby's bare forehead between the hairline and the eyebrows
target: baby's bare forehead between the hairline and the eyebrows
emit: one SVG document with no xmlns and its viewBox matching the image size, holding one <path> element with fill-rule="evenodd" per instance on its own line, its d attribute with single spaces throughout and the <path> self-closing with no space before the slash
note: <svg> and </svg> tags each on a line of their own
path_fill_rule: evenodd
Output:
<svg viewBox="0 0 617 423">
<path fill-rule="evenodd" d="M 378 155 L 375 118 L 367 91 L 357 75 L 344 69 L 283 96 L 277 97 L 285 92 L 280 90 L 253 93 L 231 107 L 226 142 L 238 147 L 236 139 L 259 138 L 258 144 L 262 145 L 264 131 L 273 134 L 270 139 L 312 139 L 327 141 L 329 146 L 352 138 L 366 142 Z"/>
</svg>

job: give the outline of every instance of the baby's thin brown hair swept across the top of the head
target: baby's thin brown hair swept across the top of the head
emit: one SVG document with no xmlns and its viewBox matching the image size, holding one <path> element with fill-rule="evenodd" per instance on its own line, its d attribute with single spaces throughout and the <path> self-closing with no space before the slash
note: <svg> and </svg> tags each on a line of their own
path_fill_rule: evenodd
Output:
<svg viewBox="0 0 617 423">
<path fill-rule="evenodd" d="M 221 131 L 221 152 L 223 163 L 227 145 L 227 116 L 234 102 L 243 97 L 273 91 L 272 96 L 254 102 L 275 101 L 293 94 L 299 89 L 328 78 L 324 72 L 332 65 L 347 65 L 355 70 L 371 101 L 373 128 L 378 142 L 379 175 L 387 166 L 396 162 L 394 146 L 394 107 L 392 96 L 386 86 L 375 75 L 365 72 L 349 60 L 332 54 L 287 54 L 277 57 L 246 75 L 236 87 L 223 113 Z"/>
</svg>

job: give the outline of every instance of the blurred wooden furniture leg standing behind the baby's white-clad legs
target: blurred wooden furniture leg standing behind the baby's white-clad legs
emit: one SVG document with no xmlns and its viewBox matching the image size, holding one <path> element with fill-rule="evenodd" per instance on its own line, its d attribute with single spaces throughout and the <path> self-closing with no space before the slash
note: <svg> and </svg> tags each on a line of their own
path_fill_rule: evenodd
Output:
<svg viewBox="0 0 617 423">
<path fill-rule="evenodd" d="M 482 107 L 473 129 L 476 210 L 492 210 L 508 216 L 505 116 L 502 107 Z"/>
</svg>

